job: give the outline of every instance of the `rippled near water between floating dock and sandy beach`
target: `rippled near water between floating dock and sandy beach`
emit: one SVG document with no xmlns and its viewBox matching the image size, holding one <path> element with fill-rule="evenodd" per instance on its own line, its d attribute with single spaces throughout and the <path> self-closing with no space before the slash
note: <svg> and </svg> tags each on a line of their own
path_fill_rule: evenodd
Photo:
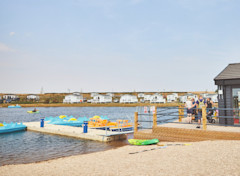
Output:
<svg viewBox="0 0 240 176">
<path fill-rule="evenodd" d="M 107 144 L 29 131 L 1 134 L 0 138 L 0 166 L 103 151 L 126 144 Z"/>
</svg>

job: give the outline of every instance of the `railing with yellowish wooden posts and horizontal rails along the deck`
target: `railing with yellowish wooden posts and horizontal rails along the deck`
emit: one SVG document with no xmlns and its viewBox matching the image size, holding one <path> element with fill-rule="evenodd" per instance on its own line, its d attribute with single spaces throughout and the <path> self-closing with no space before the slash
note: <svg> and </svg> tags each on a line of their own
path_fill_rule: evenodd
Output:
<svg viewBox="0 0 240 176">
<path fill-rule="evenodd" d="M 198 112 L 198 109 L 195 109 Z M 229 115 L 230 114 L 230 115 Z M 240 126 L 238 108 L 211 108 L 202 107 L 201 123 L 206 130 L 208 125 Z M 186 108 L 178 107 L 138 107 L 134 115 L 134 132 L 138 129 L 152 129 L 163 123 L 186 123 Z M 198 121 L 198 115 L 194 116 L 194 122 Z"/>
</svg>

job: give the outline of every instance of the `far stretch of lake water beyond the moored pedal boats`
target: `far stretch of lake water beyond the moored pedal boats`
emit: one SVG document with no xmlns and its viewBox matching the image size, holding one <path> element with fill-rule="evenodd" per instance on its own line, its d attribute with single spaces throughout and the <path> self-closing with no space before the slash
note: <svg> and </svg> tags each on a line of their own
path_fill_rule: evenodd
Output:
<svg viewBox="0 0 240 176">
<path fill-rule="evenodd" d="M 1 122 L 34 122 L 42 117 L 68 115 L 78 117 L 107 116 L 110 120 L 128 119 L 133 121 L 134 107 L 39 107 L 40 113 L 30 114 L 33 108 L 0 108 Z"/>
</svg>

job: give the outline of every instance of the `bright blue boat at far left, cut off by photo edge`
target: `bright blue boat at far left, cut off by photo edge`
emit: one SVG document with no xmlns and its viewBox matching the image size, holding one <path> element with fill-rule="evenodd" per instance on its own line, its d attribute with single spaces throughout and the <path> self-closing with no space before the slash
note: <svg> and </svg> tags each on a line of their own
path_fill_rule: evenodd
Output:
<svg viewBox="0 0 240 176">
<path fill-rule="evenodd" d="M 16 131 L 23 131 L 27 128 L 26 125 L 18 124 L 18 123 L 3 123 L 3 126 L 0 126 L 0 134 L 2 133 L 11 133 Z"/>
</svg>

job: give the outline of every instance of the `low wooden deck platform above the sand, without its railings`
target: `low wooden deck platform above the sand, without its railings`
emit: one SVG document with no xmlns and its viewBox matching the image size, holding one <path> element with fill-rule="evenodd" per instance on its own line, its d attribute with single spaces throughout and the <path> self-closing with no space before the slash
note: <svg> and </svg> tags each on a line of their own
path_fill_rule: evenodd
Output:
<svg viewBox="0 0 240 176">
<path fill-rule="evenodd" d="M 149 130 L 134 132 L 136 139 L 153 139 L 171 142 L 195 142 L 204 140 L 240 140 L 239 127 L 208 125 L 207 129 L 196 129 L 197 124 L 167 123 L 153 126 Z"/>
</svg>

